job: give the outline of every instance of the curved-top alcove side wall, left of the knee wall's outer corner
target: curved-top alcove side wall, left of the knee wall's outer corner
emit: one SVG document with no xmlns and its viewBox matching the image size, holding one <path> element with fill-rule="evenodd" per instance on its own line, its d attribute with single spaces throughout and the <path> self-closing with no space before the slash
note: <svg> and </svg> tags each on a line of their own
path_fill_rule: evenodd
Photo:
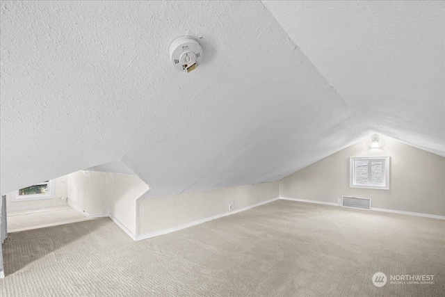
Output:
<svg viewBox="0 0 445 297">
<path fill-rule="evenodd" d="M 68 175 L 69 204 L 90 216 L 111 214 L 136 234 L 136 199 L 148 186 L 136 175 L 81 170 Z"/>
</svg>

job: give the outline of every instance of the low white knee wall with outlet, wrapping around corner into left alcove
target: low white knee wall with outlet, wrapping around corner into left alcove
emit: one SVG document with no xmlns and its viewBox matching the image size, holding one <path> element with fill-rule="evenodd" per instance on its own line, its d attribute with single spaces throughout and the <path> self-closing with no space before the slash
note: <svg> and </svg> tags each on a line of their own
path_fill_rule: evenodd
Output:
<svg viewBox="0 0 445 297">
<path fill-rule="evenodd" d="M 229 213 L 278 198 L 279 183 L 139 198 L 148 186 L 135 175 L 80 170 L 67 177 L 69 204 L 90 216 L 111 214 L 136 236 Z M 139 198 L 139 199 L 137 199 Z M 138 227 L 137 227 L 138 226 Z"/>
</svg>

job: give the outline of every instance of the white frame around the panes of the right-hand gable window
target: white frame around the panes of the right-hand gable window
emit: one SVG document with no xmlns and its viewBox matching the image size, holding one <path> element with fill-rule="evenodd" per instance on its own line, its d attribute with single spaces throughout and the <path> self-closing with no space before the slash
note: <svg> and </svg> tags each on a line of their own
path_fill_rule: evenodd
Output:
<svg viewBox="0 0 445 297">
<path fill-rule="evenodd" d="M 349 158 L 349 187 L 350 188 L 373 188 L 380 190 L 389 190 L 389 156 L 351 156 Z M 355 182 L 355 161 L 368 161 L 368 180 L 371 180 L 371 161 L 383 161 L 382 184 L 357 184 Z"/>
</svg>

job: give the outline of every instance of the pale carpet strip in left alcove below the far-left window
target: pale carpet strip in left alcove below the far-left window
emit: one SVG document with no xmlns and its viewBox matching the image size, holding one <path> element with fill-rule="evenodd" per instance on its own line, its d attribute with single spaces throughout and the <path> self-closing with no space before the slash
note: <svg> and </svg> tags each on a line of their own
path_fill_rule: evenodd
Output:
<svg viewBox="0 0 445 297">
<path fill-rule="evenodd" d="M 8 233 L 90 220 L 69 205 L 8 211 Z"/>
</svg>

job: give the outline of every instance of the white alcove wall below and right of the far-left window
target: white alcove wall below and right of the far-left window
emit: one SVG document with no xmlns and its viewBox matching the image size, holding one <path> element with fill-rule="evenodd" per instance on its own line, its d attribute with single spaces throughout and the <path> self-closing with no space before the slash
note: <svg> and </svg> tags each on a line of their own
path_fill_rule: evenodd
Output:
<svg viewBox="0 0 445 297">
<path fill-rule="evenodd" d="M 13 201 L 13 193 L 6 194 L 7 211 L 19 209 L 33 209 L 67 204 L 67 176 L 54 179 L 54 197 L 48 199 Z M 65 198 L 65 199 L 62 199 Z"/>
</svg>

